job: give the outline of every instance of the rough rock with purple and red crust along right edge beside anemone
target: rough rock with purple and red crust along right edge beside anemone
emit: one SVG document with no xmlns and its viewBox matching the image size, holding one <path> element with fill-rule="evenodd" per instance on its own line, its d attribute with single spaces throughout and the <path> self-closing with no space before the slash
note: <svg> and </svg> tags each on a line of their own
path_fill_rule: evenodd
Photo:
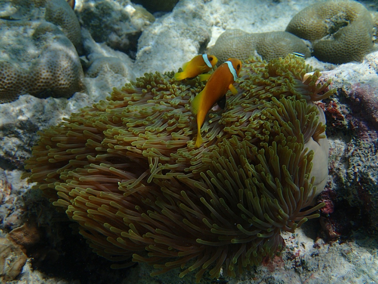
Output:
<svg viewBox="0 0 378 284">
<path fill-rule="evenodd" d="M 332 78 L 338 94 L 325 104 L 330 147 L 331 188 L 337 193 L 335 216 L 331 216 L 342 235 L 358 227 L 378 230 L 377 139 L 378 75 L 375 72 L 378 54 L 371 53 L 361 64 L 343 64 L 324 72 Z M 341 119 L 336 122 L 335 119 Z M 335 125 L 337 127 L 333 127 Z M 336 206 L 335 206 L 336 207 Z"/>
</svg>

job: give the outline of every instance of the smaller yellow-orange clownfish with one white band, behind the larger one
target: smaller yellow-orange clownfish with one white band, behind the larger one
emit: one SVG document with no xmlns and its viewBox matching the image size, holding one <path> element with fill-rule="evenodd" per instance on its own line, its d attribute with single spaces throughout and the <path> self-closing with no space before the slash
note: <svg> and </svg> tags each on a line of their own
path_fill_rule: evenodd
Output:
<svg viewBox="0 0 378 284">
<path fill-rule="evenodd" d="M 180 81 L 186 78 L 194 78 L 195 76 L 209 72 L 212 67 L 217 64 L 218 58 L 214 55 L 197 55 L 191 61 L 184 63 L 183 72 L 175 73 L 175 79 Z"/>
</svg>

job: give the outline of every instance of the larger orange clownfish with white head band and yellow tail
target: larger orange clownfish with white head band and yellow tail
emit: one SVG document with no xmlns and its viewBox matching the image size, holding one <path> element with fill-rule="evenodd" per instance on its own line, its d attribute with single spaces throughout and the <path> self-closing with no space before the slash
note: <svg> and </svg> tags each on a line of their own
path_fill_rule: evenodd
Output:
<svg viewBox="0 0 378 284">
<path fill-rule="evenodd" d="M 192 114 L 197 115 L 197 141 L 195 147 L 202 144 L 201 126 L 205 120 L 206 114 L 215 104 L 221 108 L 226 105 L 226 92 L 230 90 L 232 94 L 237 94 L 233 83 L 239 76 L 242 62 L 236 58 L 229 58 L 225 63 L 219 66 L 209 75 L 209 80 L 203 90 L 194 97 L 191 103 Z"/>
</svg>

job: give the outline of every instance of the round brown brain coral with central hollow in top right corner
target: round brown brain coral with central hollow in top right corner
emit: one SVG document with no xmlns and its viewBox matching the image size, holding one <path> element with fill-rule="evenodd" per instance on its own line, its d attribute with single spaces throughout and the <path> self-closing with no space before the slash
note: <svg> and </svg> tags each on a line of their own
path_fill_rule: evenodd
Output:
<svg viewBox="0 0 378 284">
<path fill-rule="evenodd" d="M 373 47 L 373 20 L 369 11 L 352 0 L 316 3 L 291 19 L 286 31 L 313 44 L 321 61 L 360 61 Z"/>
</svg>

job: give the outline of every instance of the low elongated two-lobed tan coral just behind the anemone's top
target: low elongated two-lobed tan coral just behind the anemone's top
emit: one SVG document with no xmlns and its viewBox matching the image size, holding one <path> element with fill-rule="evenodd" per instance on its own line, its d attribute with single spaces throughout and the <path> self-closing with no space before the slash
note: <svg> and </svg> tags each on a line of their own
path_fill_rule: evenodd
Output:
<svg viewBox="0 0 378 284">
<path fill-rule="evenodd" d="M 256 55 L 270 60 L 292 52 L 310 56 L 305 42 L 293 34 L 284 31 L 251 34 L 238 29 L 226 30 L 208 50 L 209 54 L 217 56 L 220 63 L 230 57 L 247 59 Z"/>
</svg>

